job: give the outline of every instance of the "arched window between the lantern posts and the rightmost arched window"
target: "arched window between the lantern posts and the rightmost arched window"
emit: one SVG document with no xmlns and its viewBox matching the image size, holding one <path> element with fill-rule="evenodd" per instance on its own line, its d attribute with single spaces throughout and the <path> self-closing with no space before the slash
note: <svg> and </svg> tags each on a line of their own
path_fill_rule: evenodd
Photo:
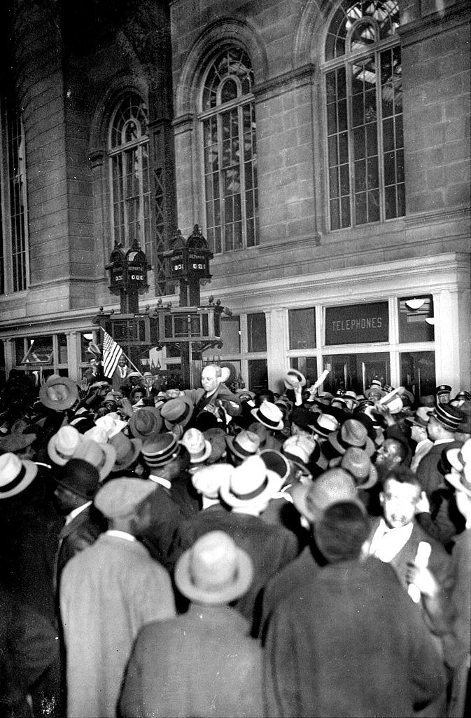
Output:
<svg viewBox="0 0 471 718">
<path fill-rule="evenodd" d="M 254 75 L 244 50 L 225 47 L 204 76 L 206 236 L 214 253 L 258 244 Z"/>
</svg>

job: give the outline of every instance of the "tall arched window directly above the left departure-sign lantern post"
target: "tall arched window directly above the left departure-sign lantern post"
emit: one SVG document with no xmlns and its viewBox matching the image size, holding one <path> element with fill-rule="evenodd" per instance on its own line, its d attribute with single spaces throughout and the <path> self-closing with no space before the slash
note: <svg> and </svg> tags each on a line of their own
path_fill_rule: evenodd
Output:
<svg viewBox="0 0 471 718">
<path fill-rule="evenodd" d="M 137 241 L 152 260 L 151 188 L 147 108 L 137 94 L 126 95 L 115 108 L 109 134 L 113 228 L 116 242 Z"/>
</svg>

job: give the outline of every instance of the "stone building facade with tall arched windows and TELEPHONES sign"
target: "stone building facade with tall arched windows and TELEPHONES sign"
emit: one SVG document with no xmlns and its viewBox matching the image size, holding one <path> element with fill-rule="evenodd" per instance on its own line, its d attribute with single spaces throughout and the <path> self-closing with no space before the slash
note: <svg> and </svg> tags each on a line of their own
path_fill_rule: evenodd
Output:
<svg viewBox="0 0 471 718">
<path fill-rule="evenodd" d="M 4 10 L 6 373 L 79 379 L 94 314 L 118 308 L 113 243 L 146 251 L 152 308 L 176 302 L 174 228 L 199 223 L 202 301 L 232 310 L 206 358 L 247 386 L 276 391 L 292 365 L 329 368 L 330 389 L 382 376 L 418 401 L 470 388 L 469 3 L 109 5 Z"/>
</svg>

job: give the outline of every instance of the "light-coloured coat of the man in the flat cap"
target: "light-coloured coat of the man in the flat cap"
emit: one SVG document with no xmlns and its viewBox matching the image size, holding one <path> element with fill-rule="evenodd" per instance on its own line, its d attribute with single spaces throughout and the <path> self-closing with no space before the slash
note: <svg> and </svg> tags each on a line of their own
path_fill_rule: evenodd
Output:
<svg viewBox="0 0 471 718">
<path fill-rule="evenodd" d="M 66 564 L 60 610 L 67 716 L 114 718 L 135 636 L 175 615 L 170 577 L 143 544 L 104 533 Z"/>
</svg>

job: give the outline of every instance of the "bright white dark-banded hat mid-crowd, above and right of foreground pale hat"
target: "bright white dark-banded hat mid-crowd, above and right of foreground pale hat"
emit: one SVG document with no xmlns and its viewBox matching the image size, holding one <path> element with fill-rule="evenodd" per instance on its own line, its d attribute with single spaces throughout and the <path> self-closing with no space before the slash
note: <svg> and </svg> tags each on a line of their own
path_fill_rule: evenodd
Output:
<svg viewBox="0 0 471 718">
<path fill-rule="evenodd" d="M 280 487 L 280 476 L 267 469 L 260 456 L 249 456 L 232 470 L 229 482 L 222 485 L 220 493 L 227 505 L 243 508 L 250 504 L 266 503 Z"/>
</svg>

